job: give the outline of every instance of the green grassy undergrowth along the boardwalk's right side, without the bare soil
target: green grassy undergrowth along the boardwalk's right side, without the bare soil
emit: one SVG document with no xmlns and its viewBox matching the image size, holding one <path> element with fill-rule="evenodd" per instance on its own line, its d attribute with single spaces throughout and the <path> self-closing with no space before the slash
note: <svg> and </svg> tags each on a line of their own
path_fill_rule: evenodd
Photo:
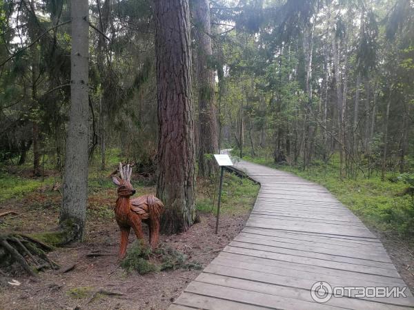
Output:
<svg viewBox="0 0 414 310">
<path fill-rule="evenodd" d="M 315 162 L 306 170 L 289 165 L 275 165 L 273 158 L 268 157 L 244 156 L 243 159 L 282 169 L 323 185 L 369 227 L 404 238 L 414 236 L 414 198 L 404 194 L 408 185 L 397 178 L 397 172 L 389 172 L 384 181 L 381 180 L 380 173 L 376 172 L 370 178 L 360 174 L 356 179 L 340 180 L 339 164 L 335 157 L 327 164 Z"/>
</svg>

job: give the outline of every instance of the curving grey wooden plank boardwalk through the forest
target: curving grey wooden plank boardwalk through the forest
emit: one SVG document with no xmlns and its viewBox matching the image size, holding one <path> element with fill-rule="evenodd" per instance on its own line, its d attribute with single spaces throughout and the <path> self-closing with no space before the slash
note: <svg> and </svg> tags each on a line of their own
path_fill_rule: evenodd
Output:
<svg viewBox="0 0 414 310">
<path fill-rule="evenodd" d="M 315 282 L 406 285 L 380 240 L 324 187 L 246 161 L 236 167 L 261 184 L 246 227 L 170 309 L 414 309 L 408 288 L 405 298 L 357 297 L 361 291 L 353 291 L 315 302 Z M 319 293 L 329 291 L 325 284 L 319 290 L 319 283 Z"/>
</svg>

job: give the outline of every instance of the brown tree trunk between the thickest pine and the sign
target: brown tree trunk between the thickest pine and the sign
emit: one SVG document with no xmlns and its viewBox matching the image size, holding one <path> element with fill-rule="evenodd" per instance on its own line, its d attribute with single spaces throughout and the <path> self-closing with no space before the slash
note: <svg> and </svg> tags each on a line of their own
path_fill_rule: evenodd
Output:
<svg viewBox="0 0 414 310">
<path fill-rule="evenodd" d="M 217 154 L 217 116 L 214 105 L 215 75 L 209 68 L 209 57 L 213 54 L 210 38 L 210 7 L 208 0 L 195 1 L 195 36 L 197 40 L 197 73 L 199 86 L 199 175 L 210 176 L 216 165 L 205 154 Z"/>
</svg>

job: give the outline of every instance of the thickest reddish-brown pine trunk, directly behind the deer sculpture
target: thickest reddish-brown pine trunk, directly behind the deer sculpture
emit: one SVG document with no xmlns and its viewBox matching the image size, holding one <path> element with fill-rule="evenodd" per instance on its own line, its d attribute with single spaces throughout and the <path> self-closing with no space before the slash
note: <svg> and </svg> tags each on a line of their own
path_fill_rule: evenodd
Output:
<svg viewBox="0 0 414 310">
<path fill-rule="evenodd" d="M 195 144 L 191 104 L 188 0 L 155 0 L 157 56 L 157 196 L 161 231 L 176 234 L 195 220 Z"/>
</svg>

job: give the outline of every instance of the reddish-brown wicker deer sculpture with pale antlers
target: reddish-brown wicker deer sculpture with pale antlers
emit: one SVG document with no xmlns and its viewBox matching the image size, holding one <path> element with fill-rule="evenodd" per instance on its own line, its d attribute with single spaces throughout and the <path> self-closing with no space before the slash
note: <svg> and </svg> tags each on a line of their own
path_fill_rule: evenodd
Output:
<svg viewBox="0 0 414 310">
<path fill-rule="evenodd" d="M 135 189 L 131 185 L 132 167 L 122 167 L 119 163 L 119 174 L 121 178 L 112 175 L 112 182 L 118 187 L 118 199 L 115 204 L 115 218 L 119 229 L 121 229 L 121 247 L 119 258 L 126 256 L 126 246 L 130 228 L 134 229 L 139 240 L 144 239 L 141 222 L 148 225 L 150 231 L 150 246 L 155 249 L 159 239 L 159 220 L 164 212 L 164 205 L 154 195 L 144 195 L 131 199 Z"/>
</svg>

